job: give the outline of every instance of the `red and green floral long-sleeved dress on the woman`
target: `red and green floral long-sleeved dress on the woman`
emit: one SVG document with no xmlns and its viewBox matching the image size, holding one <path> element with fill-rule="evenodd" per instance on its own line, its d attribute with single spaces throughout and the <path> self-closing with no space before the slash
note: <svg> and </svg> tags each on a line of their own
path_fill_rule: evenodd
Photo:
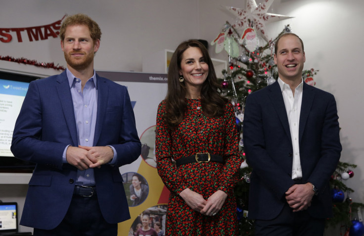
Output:
<svg viewBox="0 0 364 236">
<path fill-rule="evenodd" d="M 171 131 L 163 121 L 165 101 L 158 106 L 156 128 L 157 169 L 171 191 L 166 216 L 166 236 L 234 236 L 237 234 L 236 202 L 233 187 L 238 178 L 241 157 L 235 116 L 231 103 L 218 118 L 208 118 L 202 112 L 200 100 L 187 99 L 182 123 Z M 209 152 L 224 158 L 218 162 L 188 163 L 176 167 L 173 160 L 196 153 Z M 222 190 L 227 199 L 215 216 L 205 216 L 192 210 L 179 196 L 189 188 L 207 200 Z"/>
</svg>

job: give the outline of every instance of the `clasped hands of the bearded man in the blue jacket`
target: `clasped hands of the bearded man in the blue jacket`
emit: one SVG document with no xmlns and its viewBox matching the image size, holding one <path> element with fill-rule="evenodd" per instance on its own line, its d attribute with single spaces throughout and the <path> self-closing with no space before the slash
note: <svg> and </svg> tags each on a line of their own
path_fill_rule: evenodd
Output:
<svg viewBox="0 0 364 236">
<path fill-rule="evenodd" d="M 66 151 L 67 162 L 79 170 L 100 168 L 101 165 L 110 162 L 113 156 L 114 153 L 108 146 L 69 146 Z"/>
</svg>

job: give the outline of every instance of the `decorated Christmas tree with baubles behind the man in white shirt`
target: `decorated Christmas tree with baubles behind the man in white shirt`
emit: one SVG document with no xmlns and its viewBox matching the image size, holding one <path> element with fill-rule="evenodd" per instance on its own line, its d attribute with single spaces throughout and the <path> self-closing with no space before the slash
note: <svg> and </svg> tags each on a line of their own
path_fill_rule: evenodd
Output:
<svg viewBox="0 0 364 236">
<path fill-rule="evenodd" d="M 251 1 L 248 1 L 248 4 L 249 2 Z M 257 6 L 257 8 L 259 7 Z M 236 8 L 234 9 L 234 11 L 237 11 Z M 240 13 L 238 15 L 242 18 Z M 223 96 L 227 97 L 234 105 L 236 128 L 240 136 L 239 148 L 243 159 L 245 159 L 245 154 L 242 139 L 242 121 L 244 118 L 245 99 L 250 93 L 273 84 L 276 81 L 278 72 L 273 61 L 274 44 L 281 34 L 291 32 L 289 25 L 287 25 L 274 39 L 267 40 L 266 43 L 263 43 L 262 38 L 266 38 L 266 36 L 263 35 L 262 37 L 257 34 L 257 30 L 259 33 L 259 29 L 255 27 L 258 24 L 257 21 L 249 18 L 244 18 L 244 20 L 246 21 L 244 22 L 246 23 L 246 28 L 242 27 L 243 24 L 241 22 L 237 22 L 234 25 L 226 22 L 222 32 L 211 42 L 212 45 L 216 44 L 217 53 L 225 49 L 228 55 L 228 69 L 223 70 L 224 78 L 220 78 L 220 82 Z M 243 30 L 241 31 L 241 29 Z M 317 72 L 318 70 L 313 68 L 302 71 L 303 80 L 315 86 L 316 83 L 313 77 Z M 355 165 L 339 162 L 330 180 L 334 217 L 328 219 L 326 225 L 331 227 L 340 225 L 341 229 L 345 231 L 346 236 L 349 236 L 349 230 L 353 228 L 352 224 L 357 223 L 352 221 L 351 212 L 356 211 L 358 207 L 364 206 L 362 203 L 352 202 L 349 195 L 354 190 L 348 188 L 343 183 L 343 180 L 353 177 L 354 172 L 351 169 L 355 167 Z M 237 215 L 241 236 L 253 235 L 254 222 L 246 217 L 248 214 L 248 193 L 251 170 L 244 161 L 239 173 L 239 182 L 234 190 L 237 200 Z M 363 223 L 360 223 L 361 225 L 359 227 L 361 228 Z M 354 236 L 354 234 L 351 233 L 350 236 Z"/>
</svg>

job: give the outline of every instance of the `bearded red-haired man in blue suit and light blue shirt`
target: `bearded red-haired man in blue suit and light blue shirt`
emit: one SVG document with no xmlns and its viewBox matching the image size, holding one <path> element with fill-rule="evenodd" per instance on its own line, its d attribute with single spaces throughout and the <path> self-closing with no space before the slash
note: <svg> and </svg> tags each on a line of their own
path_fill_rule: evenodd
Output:
<svg viewBox="0 0 364 236">
<path fill-rule="evenodd" d="M 125 86 L 99 77 L 101 31 L 84 14 L 60 28 L 67 69 L 30 83 L 11 151 L 36 163 L 20 224 L 35 236 L 116 236 L 130 218 L 119 167 L 140 155 Z"/>
</svg>

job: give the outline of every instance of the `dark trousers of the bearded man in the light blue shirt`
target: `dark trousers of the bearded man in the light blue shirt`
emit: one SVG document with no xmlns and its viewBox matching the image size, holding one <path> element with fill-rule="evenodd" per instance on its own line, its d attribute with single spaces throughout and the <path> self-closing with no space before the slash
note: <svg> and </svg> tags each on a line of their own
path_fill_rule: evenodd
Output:
<svg viewBox="0 0 364 236">
<path fill-rule="evenodd" d="M 97 196 L 73 195 L 62 222 L 53 230 L 34 229 L 34 236 L 117 236 L 118 224 L 109 224 L 102 217 Z"/>
</svg>

